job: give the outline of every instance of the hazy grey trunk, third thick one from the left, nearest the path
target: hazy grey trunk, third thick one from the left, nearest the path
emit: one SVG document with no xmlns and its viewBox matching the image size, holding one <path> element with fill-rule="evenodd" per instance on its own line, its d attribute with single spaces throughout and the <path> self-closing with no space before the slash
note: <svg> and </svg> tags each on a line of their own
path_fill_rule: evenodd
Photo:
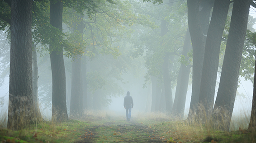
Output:
<svg viewBox="0 0 256 143">
<path fill-rule="evenodd" d="M 80 15 L 77 18 L 78 23 L 73 24 L 73 27 L 78 30 L 81 38 L 83 38 L 84 32 L 84 15 Z M 74 30 L 76 32 L 76 30 Z M 70 116 L 71 117 L 81 117 L 83 113 L 83 82 L 82 82 L 82 73 L 81 73 L 81 58 L 82 55 L 77 55 L 73 58 L 72 62 L 72 79 L 71 79 L 71 103 L 70 103 Z"/>
</svg>

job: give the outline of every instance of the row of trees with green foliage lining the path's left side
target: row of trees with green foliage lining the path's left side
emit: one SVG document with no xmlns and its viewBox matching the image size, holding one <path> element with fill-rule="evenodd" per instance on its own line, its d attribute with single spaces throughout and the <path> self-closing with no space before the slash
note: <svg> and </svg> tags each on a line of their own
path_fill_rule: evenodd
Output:
<svg viewBox="0 0 256 143">
<path fill-rule="evenodd" d="M 28 124 L 30 121 L 40 120 L 40 118 L 42 119 L 38 104 L 38 89 L 40 93 L 42 92 L 42 88 L 44 88 L 43 91 L 45 91 L 43 93 L 44 95 L 52 92 L 52 120 L 63 121 L 68 119 L 66 108 L 66 70 L 64 66 L 63 54 L 71 57 L 73 61 L 71 69 L 71 117 L 81 115 L 83 109 L 87 106 L 86 102 L 91 102 L 86 101 L 87 99 L 90 99 L 90 96 L 88 96 L 87 98 L 87 93 L 94 94 L 93 102 L 95 103 L 99 102 L 97 101 L 97 99 L 102 98 L 97 96 L 122 94 L 122 89 L 120 89 L 119 86 L 117 86 L 113 81 L 122 81 L 122 78 L 120 78 L 120 74 L 122 72 L 125 72 L 125 70 L 131 66 L 129 65 L 130 63 L 127 61 L 127 57 L 119 57 L 118 61 L 120 61 L 120 63 L 112 63 L 111 67 L 106 66 L 109 64 L 105 63 L 105 65 L 101 69 L 89 69 L 91 70 L 91 73 L 87 72 L 88 75 L 83 74 L 82 76 L 81 73 L 82 71 L 86 73 L 86 70 L 88 70 L 87 68 L 90 67 L 87 65 L 88 61 L 95 60 L 99 56 L 103 57 L 101 58 L 103 61 L 104 55 L 110 54 L 112 55 L 112 59 L 118 58 L 117 56 L 120 55 L 119 50 L 121 50 L 119 46 L 126 45 L 128 43 L 123 39 L 125 37 L 129 37 L 131 33 L 131 29 L 127 28 L 127 26 L 133 25 L 135 20 L 138 18 L 143 18 L 143 15 L 135 15 L 131 13 L 130 10 L 121 12 L 116 10 L 128 9 L 131 5 L 127 2 L 115 1 L 114 3 L 110 0 L 81 0 L 78 2 L 79 5 L 71 3 L 70 1 L 28 0 L 27 3 L 29 3 L 29 5 L 25 4 L 28 7 L 28 10 L 25 10 L 25 12 L 30 17 L 26 17 L 26 14 L 22 14 L 22 16 L 24 16 L 22 17 L 21 15 L 19 15 L 20 12 L 17 12 L 17 14 L 20 16 L 18 20 L 16 19 L 17 21 L 19 21 L 19 19 L 21 18 L 24 21 L 28 22 L 28 24 L 16 23 L 16 25 L 19 25 L 20 28 L 24 30 L 24 32 L 21 33 L 27 34 L 26 32 L 30 31 L 30 34 L 28 33 L 26 35 L 27 39 L 22 39 L 22 41 L 30 43 L 26 43 L 26 47 L 21 47 L 21 45 L 18 44 L 16 49 L 26 49 L 27 51 L 25 52 L 30 53 L 31 55 L 24 56 L 22 55 L 22 52 L 13 50 L 17 52 L 16 55 L 13 56 L 12 49 L 15 48 L 11 46 L 10 51 L 12 56 L 10 57 L 10 59 L 14 59 L 15 61 L 10 60 L 11 62 L 9 77 L 10 79 L 15 78 L 16 80 L 9 81 L 9 129 L 20 129 L 24 125 Z M 13 24 L 14 22 L 9 21 L 8 19 L 11 19 L 13 17 L 15 18 L 16 15 L 12 16 L 9 12 L 13 12 L 13 9 L 18 9 L 17 7 L 12 8 L 12 3 L 13 1 L 9 0 L 1 1 L 1 9 L 7 9 L 4 11 L 5 14 L 1 15 L 1 28 L 8 28 L 6 26 L 9 24 L 11 33 L 14 31 L 12 28 L 15 27 L 15 25 Z M 17 5 L 19 7 L 19 4 Z M 64 11 L 63 6 L 65 6 Z M 84 13 L 86 13 L 87 15 L 84 16 Z M 62 14 L 65 14 L 64 17 Z M 64 18 L 64 20 L 62 20 L 62 18 Z M 138 23 L 145 23 L 145 21 L 146 20 L 140 20 Z M 66 33 L 62 32 L 63 22 L 66 23 L 68 28 Z M 29 29 L 23 28 L 24 25 L 29 27 Z M 15 29 L 19 30 L 19 28 Z M 12 45 L 12 43 L 14 43 L 14 36 L 12 36 L 11 34 L 10 37 L 10 43 Z M 20 37 L 25 38 L 24 35 L 17 38 L 19 39 Z M 39 51 L 41 51 L 41 54 L 43 54 L 44 51 L 49 51 L 52 70 L 52 83 L 48 85 L 44 84 L 43 86 L 39 85 L 39 87 L 37 85 L 37 82 L 40 78 L 38 78 L 39 76 L 37 55 L 35 51 L 35 47 L 37 45 L 41 45 L 39 46 Z M 86 50 L 84 49 L 85 46 Z M 20 60 L 17 57 L 23 57 L 28 59 Z M 116 62 L 117 60 L 114 59 L 113 61 Z M 29 62 L 21 64 L 24 61 Z M 18 65 L 14 66 L 13 63 L 16 64 L 16 62 L 19 63 Z M 24 64 L 28 67 L 20 66 Z M 116 67 L 114 68 L 114 66 Z M 26 75 L 20 74 L 19 72 L 16 73 L 17 71 L 24 71 Z M 104 71 L 104 74 L 106 74 L 105 77 L 103 77 L 103 73 L 100 73 L 102 71 Z M 109 71 L 109 73 L 106 73 L 106 71 Z M 39 71 L 39 74 L 40 73 L 42 73 L 42 71 Z M 17 77 L 16 74 L 19 74 L 19 76 L 22 76 L 26 80 Z M 32 84 L 32 77 L 34 84 Z M 113 78 L 115 78 L 115 80 L 113 80 Z M 43 80 L 45 80 L 45 78 Z M 31 83 L 26 84 L 26 82 L 28 81 Z M 108 84 L 107 82 L 112 84 Z M 20 86 L 21 84 L 23 86 Z M 49 85 L 52 86 L 52 91 L 47 91 Z M 88 85 L 89 91 L 87 92 Z M 26 90 L 24 90 L 24 86 L 26 86 Z M 108 88 L 109 91 L 107 90 L 107 92 L 102 93 L 100 92 L 102 88 Z M 14 91 L 12 91 L 11 89 Z M 20 96 L 20 94 L 22 96 Z M 85 97 L 85 99 L 83 99 L 83 97 Z M 16 104 L 16 102 L 19 104 Z M 85 105 L 83 105 L 84 102 Z M 100 106 L 102 106 L 104 102 L 105 101 L 100 101 Z M 19 110 L 18 108 L 22 110 Z"/>
</svg>

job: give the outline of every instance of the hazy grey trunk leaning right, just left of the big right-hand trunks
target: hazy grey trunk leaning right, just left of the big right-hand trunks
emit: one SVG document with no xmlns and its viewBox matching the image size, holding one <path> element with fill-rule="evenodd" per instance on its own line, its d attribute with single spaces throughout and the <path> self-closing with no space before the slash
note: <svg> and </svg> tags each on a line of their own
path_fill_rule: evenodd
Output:
<svg viewBox="0 0 256 143">
<path fill-rule="evenodd" d="M 183 45 L 182 55 L 186 57 L 188 60 L 188 52 L 192 49 L 192 45 L 190 42 L 190 31 L 187 29 L 185 41 Z M 189 64 L 189 63 L 188 63 Z M 185 111 L 185 103 L 186 103 L 186 96 L 189 84 L 189 76 L 190 76 L 190 65 L 181 64 L 180 71 L 177 79 L 177 86 L 175 91 L 175 99 L 172 108 L 172 115 L 179 116 L 180 119 L 184 117 Z"/>
</svg>

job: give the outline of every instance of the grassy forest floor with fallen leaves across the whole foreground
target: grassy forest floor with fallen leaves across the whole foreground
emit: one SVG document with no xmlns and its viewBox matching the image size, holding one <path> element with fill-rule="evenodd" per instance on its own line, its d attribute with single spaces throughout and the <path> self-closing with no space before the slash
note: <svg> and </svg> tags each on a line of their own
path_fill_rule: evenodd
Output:
<svg viewBox="0 0 256 143">
<path fill-rule="evenodd" d="M 134 115 L 135 116 L 135 115 Z M 224 132 L 159 114 L 86 115 L 62 123 L 43 121 L 26 129 L 0 129 L 0 143 L 256 143 L 256 132 Z"/>
</svg>

